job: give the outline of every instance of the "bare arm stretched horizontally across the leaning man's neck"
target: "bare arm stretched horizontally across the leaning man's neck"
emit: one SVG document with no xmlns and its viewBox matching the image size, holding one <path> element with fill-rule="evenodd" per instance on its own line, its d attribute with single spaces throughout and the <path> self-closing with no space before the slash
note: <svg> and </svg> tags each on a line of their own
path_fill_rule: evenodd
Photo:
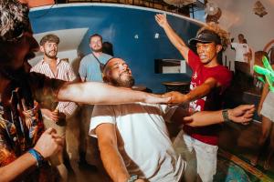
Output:
<svg viewBox="0 0 274 182">
<path fill-rule="evenodd" d="M 170 97 L 157 96 L 97 82 L 85 82 L 62 86 L 58 92 L 58 99 L 91 105 L 115 105 L 133 102 L 167 103 Z"/>
</svg>

